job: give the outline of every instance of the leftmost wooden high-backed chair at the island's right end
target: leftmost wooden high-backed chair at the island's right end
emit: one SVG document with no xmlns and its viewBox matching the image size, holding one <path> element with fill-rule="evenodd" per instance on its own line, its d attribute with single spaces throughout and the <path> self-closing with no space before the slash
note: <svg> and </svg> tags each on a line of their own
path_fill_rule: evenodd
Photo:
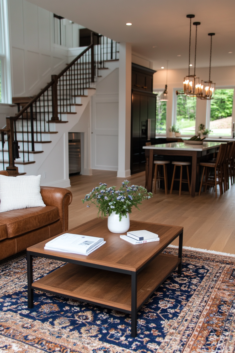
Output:
<svg viewBox="0 0 235 353">
<path fill-rule="evenodd" d="M 199 165 L 203 167 L 202 181 L 199 189 L 199 196 L 201 194 L 202 186 L 204 186 L 204 192 L 207 186 L 215 186 L 215 197 L 217 198 L 217 184 L 219 185 L 220 195 L 223 194 L 223 162 L 225 160 L 226 144 L 222 143 L 219 147 L 219 151 L 215 162 L 202 162 Z M 214 170 L 214 174 L 211 172 Z M 203 178 L 205 176 L 205 180 Z M 217 182 L 218 180 L 218 182 Z"/>
</svg>

